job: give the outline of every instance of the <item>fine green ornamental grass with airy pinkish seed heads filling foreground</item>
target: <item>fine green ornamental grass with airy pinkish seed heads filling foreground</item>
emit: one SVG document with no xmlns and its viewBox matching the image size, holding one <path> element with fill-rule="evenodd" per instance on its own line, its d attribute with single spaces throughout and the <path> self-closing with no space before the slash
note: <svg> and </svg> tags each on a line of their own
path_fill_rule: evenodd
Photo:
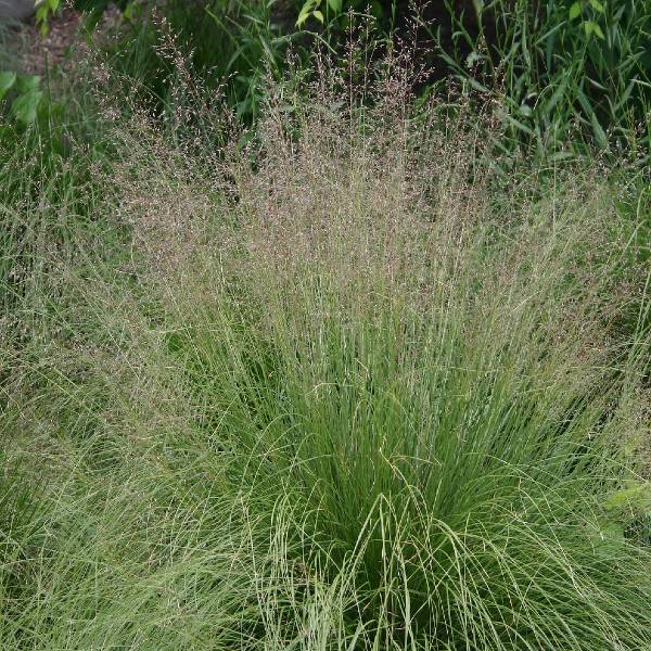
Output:
<svg viewBox="0 0 651 651">
<path fill-rule="evenodd" d="M 505 188 L 489 116 L 342 67 L 269 88 L 254 135 L 215 115 L 218 152 L 120 131 L 128 259 L 68 259 L 51 346 L 8 355 L 12 481 L 51 470 L 2 548 L 7 648 L 648 646 L 614 190 Z"/>
</svg>

